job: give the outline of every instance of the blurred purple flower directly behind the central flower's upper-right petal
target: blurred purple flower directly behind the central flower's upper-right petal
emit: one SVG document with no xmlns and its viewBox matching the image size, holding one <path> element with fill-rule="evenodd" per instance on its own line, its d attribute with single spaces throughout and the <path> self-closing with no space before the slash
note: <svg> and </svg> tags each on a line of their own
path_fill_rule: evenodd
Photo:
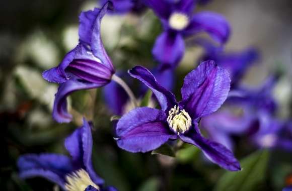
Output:
<svg viewBox="0 0 292 191">
<path fill-rule="evenodd" d="M 216 46 L 205 39 L 196 39 L 195 43 L 205 49 L 200 61 L 214 60 L 219 66 L 228 69 L 232 87 L 238 84 L 247 69 L 259 59 L 258 51 L 253 47 L 238 52 L 225 52 L 223 47 Z"/>
</svg>

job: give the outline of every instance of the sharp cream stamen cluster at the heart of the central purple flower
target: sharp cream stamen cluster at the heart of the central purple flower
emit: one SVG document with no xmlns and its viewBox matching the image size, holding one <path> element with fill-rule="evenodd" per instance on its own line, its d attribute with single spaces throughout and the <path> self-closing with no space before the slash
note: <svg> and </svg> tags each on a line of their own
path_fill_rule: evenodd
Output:
<svg viewBox="0 0 292 191">
<path fill-rule="evenodd" d="M 168 112 L 167 122 L 169 127 L 178 135 L 190 129 L 192 119 L 185 110 L 180 110 L 179 106 L 172 108 Z"/>
</svg>

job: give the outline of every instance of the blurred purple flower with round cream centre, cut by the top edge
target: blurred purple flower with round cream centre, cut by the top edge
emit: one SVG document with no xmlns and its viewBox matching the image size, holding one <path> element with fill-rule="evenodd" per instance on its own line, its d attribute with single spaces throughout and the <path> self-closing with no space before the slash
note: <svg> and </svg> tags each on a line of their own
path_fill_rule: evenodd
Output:
<svg viewBox="0 0 292 191">
<path fill-rule="evenodd" d="M 162 64 L 175 67 L 181 60 L 184 38 L 206 32 L 220 44 L 228 40 L 230 26 L 220 14 L 200 12 L 193 14 L 193 0 L 145 0 L 160 18 L 164 32 L 156 39 L 152 53 Z"/>
</svg>

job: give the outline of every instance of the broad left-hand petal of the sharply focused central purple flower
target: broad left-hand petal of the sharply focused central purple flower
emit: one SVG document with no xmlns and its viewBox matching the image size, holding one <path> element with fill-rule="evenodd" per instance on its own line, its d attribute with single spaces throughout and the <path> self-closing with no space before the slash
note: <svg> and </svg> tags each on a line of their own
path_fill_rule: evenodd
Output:
<svg viewBox="0 0 292 191">
<path fill-rule="evenodd" d="M 129 152 L 148 152 L 160 147 L 175 135 L 166 123 L 162 110 L 136 108 L 117 123 L 117 144 Z"/>
</svg>

